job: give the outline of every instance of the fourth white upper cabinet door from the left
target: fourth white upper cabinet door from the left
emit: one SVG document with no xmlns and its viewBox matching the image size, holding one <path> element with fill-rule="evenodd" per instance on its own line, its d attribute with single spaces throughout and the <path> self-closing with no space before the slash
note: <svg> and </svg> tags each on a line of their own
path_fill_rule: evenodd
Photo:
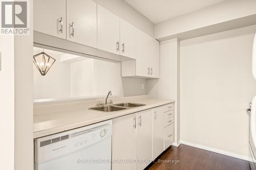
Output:
<svg viewBox="0 0 256 170">
<path fill-rule="evenodd" d="M 120 54 L 122 56 L 136 59 L 136 31 L 133 25 L 120 18 Z"/>
</svg>

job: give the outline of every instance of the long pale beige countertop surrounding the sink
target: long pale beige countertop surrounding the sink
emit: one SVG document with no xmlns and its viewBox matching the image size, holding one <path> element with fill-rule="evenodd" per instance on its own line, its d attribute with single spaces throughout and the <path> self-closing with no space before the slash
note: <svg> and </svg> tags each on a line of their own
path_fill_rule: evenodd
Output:
<svg viewBox="0 0 256 170">
<path fill-rule="evenodd" d="M 91 125 L 104 120 L 175 102 L 174 100 L 150 99 L 147 95 L 142 95 L 114 98 L 113 103 L 133 102 L 146 104 L 145 106 L 116 112 L 99 112 L 88 109 L 94 107 L 98 101 L 99 100 L 34 105 L 34 138 Z"/>
</svg>

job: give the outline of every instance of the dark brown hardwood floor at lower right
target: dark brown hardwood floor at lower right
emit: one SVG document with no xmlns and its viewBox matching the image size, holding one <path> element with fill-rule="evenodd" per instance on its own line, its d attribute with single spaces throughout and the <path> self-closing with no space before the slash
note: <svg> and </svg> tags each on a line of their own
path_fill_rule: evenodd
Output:
<svg viewBox="0 0 256 170">
<path fill-rule="evenodd" d="M 248 161 L 210 152 L 188 145 L 169 148 L 159 160 L 173 161 L 153 164 L 150 170 L 250 170 Z M 174 161 L 179 163 L 174 163 Z"/>
</svg>

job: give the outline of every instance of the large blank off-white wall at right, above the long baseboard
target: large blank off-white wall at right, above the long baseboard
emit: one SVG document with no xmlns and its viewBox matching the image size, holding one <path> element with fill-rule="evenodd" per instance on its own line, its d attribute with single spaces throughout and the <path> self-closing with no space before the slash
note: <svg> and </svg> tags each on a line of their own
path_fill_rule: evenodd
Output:
<svg viewBox="0 0 256 170">
<path fill-rule="evenodd" d="M 256 26 L 181 41 L 181 142 L 248 158 Z"/>
</svg>

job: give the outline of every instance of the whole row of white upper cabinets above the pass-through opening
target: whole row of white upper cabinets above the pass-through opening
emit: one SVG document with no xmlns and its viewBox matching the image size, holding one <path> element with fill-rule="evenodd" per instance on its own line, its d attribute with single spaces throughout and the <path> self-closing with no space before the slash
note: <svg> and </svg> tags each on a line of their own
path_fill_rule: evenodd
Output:
<svg viewBox="0 0 256 170">
<path fill-rule="evenodd" d="M 159 42 L 91 0 L 35 0 L 34 45 L 122 62 L 122 77 L 159 78 Z"/>
</svg>

